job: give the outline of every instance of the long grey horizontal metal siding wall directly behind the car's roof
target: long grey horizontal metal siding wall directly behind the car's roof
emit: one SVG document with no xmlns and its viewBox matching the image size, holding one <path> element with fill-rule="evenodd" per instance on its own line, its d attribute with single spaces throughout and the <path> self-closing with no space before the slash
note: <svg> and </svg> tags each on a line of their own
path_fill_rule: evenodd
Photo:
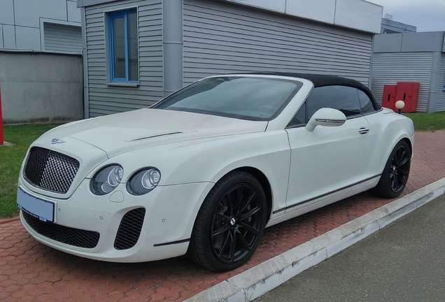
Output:
<svg viewBox="0 0 445 302">
<path fill-rule="evenodd" d="M 184 0 L 184 84 L 216 73 L 287 71 L 369 83 L 372 35 L 218 1 Z"/>
</svg>

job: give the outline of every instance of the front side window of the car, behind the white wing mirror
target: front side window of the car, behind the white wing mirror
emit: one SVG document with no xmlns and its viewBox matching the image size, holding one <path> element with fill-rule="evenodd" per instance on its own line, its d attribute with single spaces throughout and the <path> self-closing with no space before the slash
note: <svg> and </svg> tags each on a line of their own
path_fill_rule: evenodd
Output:
<svg viewBox="0 0 445 302">
<path fill-rule="evenodd" d="M 340 110 L 346 117 L 360 115 L 360 104 L 357 89 L 347 86 L 315 87 L 306 100 L 307 119 L 309 121 L 320 108 Z"/>
</svg>

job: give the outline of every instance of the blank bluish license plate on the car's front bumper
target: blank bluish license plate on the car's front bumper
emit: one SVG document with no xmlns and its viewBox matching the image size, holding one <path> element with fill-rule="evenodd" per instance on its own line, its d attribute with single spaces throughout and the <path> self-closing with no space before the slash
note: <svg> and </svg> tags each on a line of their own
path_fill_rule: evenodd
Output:
<svg viewBox="0 0 445 302">
<path fill-rule="evenodd" d="M 45 201 L 24 192 L 22 188 L 17 189 L 17 205 L 24 212 L 44 222 L 54 222 L 55 202 Z"/>
</svg>

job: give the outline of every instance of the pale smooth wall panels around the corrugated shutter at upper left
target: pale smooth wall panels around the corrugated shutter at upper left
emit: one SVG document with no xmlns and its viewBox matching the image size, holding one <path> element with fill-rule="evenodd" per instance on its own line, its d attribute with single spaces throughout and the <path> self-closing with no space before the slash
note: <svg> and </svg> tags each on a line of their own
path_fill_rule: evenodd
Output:
<svg viewBox="0 0 445 302">
<path fill-rule="evenodd" d="M 0 48 L 45 50 L 44 22 L 80 27 L 76 0 L 0 0 Z"/>
</svg>

